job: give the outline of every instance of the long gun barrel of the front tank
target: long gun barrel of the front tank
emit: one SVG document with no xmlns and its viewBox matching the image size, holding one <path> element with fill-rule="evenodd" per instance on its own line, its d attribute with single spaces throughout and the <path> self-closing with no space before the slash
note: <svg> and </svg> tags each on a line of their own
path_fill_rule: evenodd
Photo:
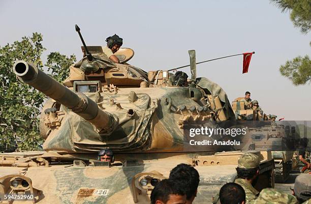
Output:
<svg viewBox="0 0 311 204">
<path fill-rule="evenodd" d="M 98 130 L 108 132 L 113 130 L 115 120 L 110 113 L 100 109 L 95 101 L 84 94 L 69 90 L 33 64 L 17 61 L 13 66 L 13 72 L 21 82 L 33 86 L 46 96 L 71 109 L 96 126 Z"/>
</svg>

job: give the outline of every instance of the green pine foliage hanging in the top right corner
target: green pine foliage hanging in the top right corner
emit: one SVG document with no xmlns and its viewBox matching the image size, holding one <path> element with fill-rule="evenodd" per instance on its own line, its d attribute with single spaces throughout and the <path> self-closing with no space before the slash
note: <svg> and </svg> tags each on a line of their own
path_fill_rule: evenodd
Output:
<svg viewBox="0 0 311 204">
<path fill-rule="evenodd" d="M 290 17 L 295 27 L 304 34 L 311 30 L 311 1 L 310 0 L 270 0 L 282 9 L 290 11 Z"/>
</svg>

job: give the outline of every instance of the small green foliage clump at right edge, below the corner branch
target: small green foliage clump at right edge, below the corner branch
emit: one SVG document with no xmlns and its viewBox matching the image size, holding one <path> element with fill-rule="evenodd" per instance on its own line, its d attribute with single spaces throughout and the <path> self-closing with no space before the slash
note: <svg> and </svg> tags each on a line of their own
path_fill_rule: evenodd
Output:
<svg viewBox="0 0 311 204">
<path fill-rule="evenodd" d="M 295 57 L 292 61 L 287 61 L 279 68 L 281 74 L 293 81 L 294 85 L 310 83 L 311 81 L 311 61 L 308 55 Z"/>
</svg>

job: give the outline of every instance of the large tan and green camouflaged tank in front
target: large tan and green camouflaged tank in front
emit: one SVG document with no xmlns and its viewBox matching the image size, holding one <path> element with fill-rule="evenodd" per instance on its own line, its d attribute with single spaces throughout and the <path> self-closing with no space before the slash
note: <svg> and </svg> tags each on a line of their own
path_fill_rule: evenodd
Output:
<svg viewBox="0 0 311 204">
<path fill-rule="evenodd" d="M 115 53 L 118 64 L 101 46 L 82 42 L 84 57 L 70 67 L 64 85 L 31 63 L 15 63 L 17 78 L 50 99 L 40 121 L 44 152 L 0 155 L 0 202 L 150 203 L 153 187 L 179 163 L 199 171 L 194 203 L 211 201 L 223 184 L 234 181 L 245 152 L 220 152 L 216 145 L 184 150 L 189 123 L 235 122 L 224 90 L 196 77 L 194 50 L 192 80 L 180 86 L 168 71 L 147 73 L 128 64 L 134 54 L 129 48 Z M 97 161 L 103 149 L 114 152 L 115 162 Z M 262 160 L 255 187 L 273 187 L 271 156 L 251 152 Z"/>
</svg>

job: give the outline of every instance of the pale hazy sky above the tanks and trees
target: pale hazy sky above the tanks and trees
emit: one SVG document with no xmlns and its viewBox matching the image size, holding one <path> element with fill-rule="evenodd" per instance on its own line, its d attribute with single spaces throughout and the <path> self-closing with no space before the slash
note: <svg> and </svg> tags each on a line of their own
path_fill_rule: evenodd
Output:
<svg viewBox="0 0 311 204">
<path fill-rule="evenodd" d="M 230 101 L 250 91 L 265 113 L 311 120 L 311 85 L 294 86 L 278 71 L 287 60 L 311 54 L 310 34 L 301 34 L 289 13 L 269 1 L 2 0 L 0 19 L 0 46 L 40 32 L 43 59 L 51 51 L 80 59 L 75 24 L 87 45 L 104 45 L 118 34 L 123 47 L 135 51 L 129 63 L 146 71 L 189 64 L 190 49 L 197 62 L 256 51 L 246 74 L 242 56 L 235 56 L 198 65 L 197 76 L 221 85 Z"/>
</svg>

